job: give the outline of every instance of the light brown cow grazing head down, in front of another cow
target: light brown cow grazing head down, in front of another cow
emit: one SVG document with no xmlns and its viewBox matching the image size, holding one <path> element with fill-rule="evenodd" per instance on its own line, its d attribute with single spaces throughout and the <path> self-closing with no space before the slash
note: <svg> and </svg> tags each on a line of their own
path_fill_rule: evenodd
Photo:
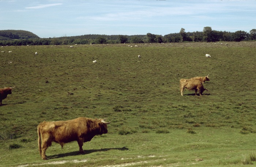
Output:
<svg viewBox="0 0 256 167">
<path fill-rule="evenodd" d="M 187 88 L 188 90 L 195 90 L 195 95 L 197 96 L 196 92 L 198 91 L 200 96 L 204 90 L 207 90 L 203 86 L 203 82 L 196 80 L 196 79 L 181 79 L 180 80 L 180 92 L 181 96 L 183 96 L 183 90 Z M 208 90 L 207 90 L 208 91 Z"/>
</svg>

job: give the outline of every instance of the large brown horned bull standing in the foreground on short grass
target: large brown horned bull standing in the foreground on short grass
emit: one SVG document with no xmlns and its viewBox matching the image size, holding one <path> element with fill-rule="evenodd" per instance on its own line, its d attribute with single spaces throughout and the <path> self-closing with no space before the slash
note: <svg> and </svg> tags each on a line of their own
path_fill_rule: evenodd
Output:
<svg viewBox="0 0 256 167">
<path fill-rule="evenodd" d="M 52 141 L 61 147 L 65 143 L 77 141 L 79 152 L 84 153 L 83 143 L 91 141 L 95 135 L 108 133 L 106 119 L 90 119 L 79 117 L 68 121 L 42 122 L 37 126 L 38 149 L 42 159 L 46 159 L 45 151 Z"/>
</svg>

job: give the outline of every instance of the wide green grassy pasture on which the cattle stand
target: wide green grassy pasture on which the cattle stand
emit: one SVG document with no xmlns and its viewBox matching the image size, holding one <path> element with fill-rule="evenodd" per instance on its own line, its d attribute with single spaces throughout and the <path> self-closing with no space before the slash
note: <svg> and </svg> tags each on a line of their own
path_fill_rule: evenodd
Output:
<svg viewBox="0 0 256 167">
<path fill-rule="evenodd" d="M 256 164 L 256 42 L 134 45 L 1 47 L 1 88 L 15 88 L 0 106 L 0 166 Z M 181 96 L 181 78 L 208 74 L 208 92 Z M 80 116 L 108 118 L 109 132 L 84 155 L 53 143 L 42 160 L 37 125 Z"/>
</svg>

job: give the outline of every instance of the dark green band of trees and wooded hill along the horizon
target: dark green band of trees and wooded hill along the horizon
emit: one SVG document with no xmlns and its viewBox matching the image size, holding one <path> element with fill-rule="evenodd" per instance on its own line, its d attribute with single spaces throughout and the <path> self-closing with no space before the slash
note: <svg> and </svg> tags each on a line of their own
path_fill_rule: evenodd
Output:
<svg viewBox="0 0 256 167">
<path fill-rule="evenodd" d="M 115 44 L 115 43 L 171 43 L 171 42 L 217 42 L 256 40 L 256 29 L 246 31 L 216 31 L 204 27 L 203 31 L 180 32 L 167 35 L 147 33 L 146 35 L 99 35 L 63 36 L 39 38 L 39 36 L 24 30 L 0 30 L 0 46 L 22 45 L 66 45 L 66 44 Z"/>
</svg>

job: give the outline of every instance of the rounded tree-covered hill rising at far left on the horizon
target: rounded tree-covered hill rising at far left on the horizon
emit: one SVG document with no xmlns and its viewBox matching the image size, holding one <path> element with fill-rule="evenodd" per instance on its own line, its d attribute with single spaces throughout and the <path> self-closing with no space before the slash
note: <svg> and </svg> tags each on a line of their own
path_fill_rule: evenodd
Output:
<svg viewBox="0 0 256 167">
<path fill-rule="evenodd" d="M 0 30 L 0 40 L 30 38 L 39 38 L 39 36 L 24 30 Z"/>
</svg>

